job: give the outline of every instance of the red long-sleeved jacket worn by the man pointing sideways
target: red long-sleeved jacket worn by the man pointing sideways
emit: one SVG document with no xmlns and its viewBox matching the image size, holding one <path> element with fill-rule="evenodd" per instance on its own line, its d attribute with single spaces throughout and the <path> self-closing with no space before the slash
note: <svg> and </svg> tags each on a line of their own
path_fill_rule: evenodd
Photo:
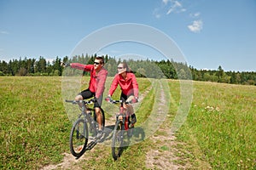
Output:
<svg viewBox="0 0 256 170">
<path fill-rule="evenodd" d="M 102 67 L 102 69 L 97 74 L 94 69 L 94 65 L 72 63 L 71 67 L 82 71 L 90 71 L 90 92 L 95 93 L 96 98 L 99 98 L 103 94 L 105 89 L 105 82 L 108 76 L 108 71 L 104 67 Z"/>
</svg>

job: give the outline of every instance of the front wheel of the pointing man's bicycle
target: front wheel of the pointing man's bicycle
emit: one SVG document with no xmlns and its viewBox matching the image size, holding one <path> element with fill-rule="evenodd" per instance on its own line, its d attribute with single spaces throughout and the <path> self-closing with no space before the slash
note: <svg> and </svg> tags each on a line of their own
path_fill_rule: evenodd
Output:
<svg viewBox="0 0 256 170">
<path fill-rule="evenodd" d="M 88 143 L 88 127 L 84 119 L 79 118 L 74 122 L 70 137 L 69 146 L 73 156 L 80 157 L 86 150 Z"/>
</svg>

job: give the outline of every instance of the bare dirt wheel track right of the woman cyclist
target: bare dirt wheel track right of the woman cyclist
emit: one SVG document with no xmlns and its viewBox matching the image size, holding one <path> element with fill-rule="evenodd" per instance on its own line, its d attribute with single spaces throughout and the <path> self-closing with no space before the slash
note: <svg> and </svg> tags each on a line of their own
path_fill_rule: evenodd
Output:
<svg viewBox="0 0 256 170">
<path fill-rule="evenodd" d="M 168 106 L 166 107 L 166 105 L 169 105 L 169 103 L 167 103 L 169 99 L 167 98 L 171 96 L 167 96 L 167 94 L 165 93 L 162 81 L 157 81 L 157 83 L 157 87 L 160 89 L 156 93 L 157 95 L 155 97 L 159 98 L 160 101 L 157 104 L 158 112 L 160 113 L 160 115 L 163 115 L 166 112 L 166 108 L 169 108 Z M 163 116 L 159 117 L 164 118 Z M 175 156 L 175 153 L 177 152 L 177 149 L 175 148 L 175 146 L 177 145 L 177 142 L 175 141 L 176 137 L 171 132 L 168 124 L 166 124 L 165 126 L 165 123 L 170 122 L 168 122 L 168 119 L 166 119 L 166 121 L 163 122 L 163 124 L 157 131 L 157 133 L 162 135 L 154 134 L 149 138 L 150 140 L 152 140 L 152 145 L 154 147 L 146 154 L 146 166 L 150 169 L 187 169 L 191 167 L 189 164 L 183 166 L 175 163 L 175 161 L 180 159 L 179 157 Z"/>
</svg>

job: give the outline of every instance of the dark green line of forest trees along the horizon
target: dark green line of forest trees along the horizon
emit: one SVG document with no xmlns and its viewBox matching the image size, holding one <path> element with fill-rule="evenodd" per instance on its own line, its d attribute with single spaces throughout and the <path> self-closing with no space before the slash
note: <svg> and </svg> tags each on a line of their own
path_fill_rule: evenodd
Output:
<svg viewBox="0 0 256 170">
<path fill-rule="evenodd" d="M 108 75 L 115 75 L 117 65 L 121 60 L 108 55 L 102 57 L 105 59 Z M 0 76 L 73 76 L 76 74 L 86 76 L 89 74 L 88 72 L 74 69 L 65 69 L 64 71 L 61 62 L 78 62 L 89 65 L 93 64 L 95 58 L 96 54 L 82 54 L 73 56 L 71 59 L 67 56 L 63 59 L 57 56 L 51 62 L 42 56 L 39 59 L 10 59 L 9 62 L 0 60 Z M 192 79 L 195 81 L 256 85 L 256 72 L 224 71 L 220 65 L 217 70 L 198 70 L 186 63 L 176 62 L 172 59 L 160 61 L 126 59 L 125 62 L 128 63 L 137 77 Z"/>
</svg>

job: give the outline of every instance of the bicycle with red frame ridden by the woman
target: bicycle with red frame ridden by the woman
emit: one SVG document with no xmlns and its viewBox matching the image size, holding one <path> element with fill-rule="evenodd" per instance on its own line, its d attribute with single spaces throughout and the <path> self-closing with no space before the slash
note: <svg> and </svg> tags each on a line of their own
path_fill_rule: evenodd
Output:
<svg viewBox="0 0 256 170">
<path fill-rule="evenodd" d="M 109 103 L 119 104 L 123 103 L 122 100 L 110 99 Z M 125 104 L 131 104 L 131 102 L 124 102 Z M 132 136 L 133 127 L 130 127 L 130 116 L 124 108 L 120 106 L 119 113 L 116 114 L 116 122 L 113 128 L 113 139 L 111 144 L 113 160 L 116 161 L 119 156 L 121 156 L 124 147 L 124 133 L 127 132 L 128 138 Z"/>
</svg>

